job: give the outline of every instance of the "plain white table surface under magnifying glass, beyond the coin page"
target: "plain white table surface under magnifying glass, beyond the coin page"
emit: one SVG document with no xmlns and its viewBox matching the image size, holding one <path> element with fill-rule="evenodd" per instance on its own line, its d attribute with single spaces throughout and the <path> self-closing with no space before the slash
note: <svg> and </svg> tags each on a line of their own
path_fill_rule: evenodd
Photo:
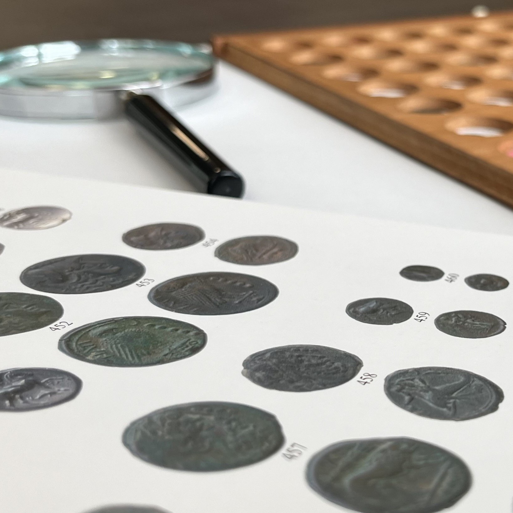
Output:
<svg viewBox="0 0 513 513">
<path fill-rule="evenodd" d="M 246 199 L 513 234 L 513 210 L 487 196 L 228 64 L 219 82 L 179 117 L 244 175 Z M 192 190 L 124 120 L 4 118 L 0 141 L 0 168 Z"/>
</svg>

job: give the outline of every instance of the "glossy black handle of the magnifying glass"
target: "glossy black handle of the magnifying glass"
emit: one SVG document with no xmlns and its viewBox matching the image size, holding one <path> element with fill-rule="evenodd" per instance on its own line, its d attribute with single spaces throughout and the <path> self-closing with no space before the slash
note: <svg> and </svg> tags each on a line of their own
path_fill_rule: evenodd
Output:
<svg viewBox="0 0 513 513">
<path fill-rule="evenodd" d="M 147 94 L 127 92 L 124 110 L 137 131 L 202 192 L 242 198 L 244 180 Z"/>
</svg>

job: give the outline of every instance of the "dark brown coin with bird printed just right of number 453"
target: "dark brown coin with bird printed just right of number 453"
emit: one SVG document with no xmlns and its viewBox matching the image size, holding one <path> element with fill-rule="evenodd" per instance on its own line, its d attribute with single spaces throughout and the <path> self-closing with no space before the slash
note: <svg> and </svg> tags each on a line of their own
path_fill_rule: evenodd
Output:
<svg viewBox="0 0 513 513">
<path fill-rule="evenodd" d="M 161 283 L 150 290 L 148 299 L 172 312 L 224 315 L 261 308 L 277 296 L 278 288 L 257 276 L 202 272 Z"/>
</svg>

